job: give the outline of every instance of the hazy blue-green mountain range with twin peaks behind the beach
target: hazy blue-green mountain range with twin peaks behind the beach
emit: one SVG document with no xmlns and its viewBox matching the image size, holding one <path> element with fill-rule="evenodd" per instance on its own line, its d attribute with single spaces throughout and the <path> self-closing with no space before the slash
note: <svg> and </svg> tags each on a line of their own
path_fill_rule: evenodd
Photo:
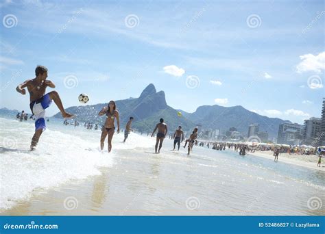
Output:
<svg viewBox="0 0 325 234">
<path fill-rule="evenodd" d="M 109 100 L 108 100 L 109 101 Z M 237 105 L 234 107 L 221 107 L 219 105 L 203 105 L 197 107 L 193 113 L 187 113 L 180 109 L 173 109 L 166 103 L 165 92 L 156 91 L 152 83 L 143 90 L 139 98 L 130 98 L 115 101 L 120 114 L 121 129 L 125 126 L 130 116 L 134 117 L 132 127 L 138 131 L 153 131 L 160 118 L 164 118 L 169 131 L 174 131 L 178 125 L 182 125 L 184 131 L 191 131 L 199 125 L 202 129 L 228 130 L 235 127 L 237 131 L 248 133 L 248 126 L 254 123 L 260 125 L 260 131 L 267 131 L 269 138 L 276 138 L 278 126 L 289 120 L 280 118 L 269 118 L 261 116 L 248 109 Z M 99 111 L 107 103 L 96 105 L 81 105 L 67 108 L 67 112 L 77 114 L 76 119 L 82 122 L 97 122 L 102 124 L 104 116 L 98 116 Z M 182 116 L 178 116 L 182 112 Z M 54 115 L 55 118 L 62 118 L 61 114 Z"/>
</svg>

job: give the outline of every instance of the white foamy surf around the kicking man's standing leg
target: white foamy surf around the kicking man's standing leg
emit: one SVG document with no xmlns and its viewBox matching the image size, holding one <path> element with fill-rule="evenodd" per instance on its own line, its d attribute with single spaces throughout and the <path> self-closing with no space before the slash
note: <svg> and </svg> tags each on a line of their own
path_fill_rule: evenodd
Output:
<svg viewBox="0 0 325 234">
<path fill-rule="evenodd" d="M 30 198 L 36 189 L 44 192 L 68 181 L 85 179 L 100 174 L 99 167 L 114 164 L 116 152 L 107 157 L 107 144 L 105 155 L 99 151 L 100 131 L 64 126 L 62 121 L 51 119 L 36 151 L 29 151 L 33 134 L 32 120 L 0 118 L 0 209 Z M 137 146 L 151 145 L 141 138 Z M 131 149 L 136 142 L 119 143 L 117 148 Z"/>
</svg>

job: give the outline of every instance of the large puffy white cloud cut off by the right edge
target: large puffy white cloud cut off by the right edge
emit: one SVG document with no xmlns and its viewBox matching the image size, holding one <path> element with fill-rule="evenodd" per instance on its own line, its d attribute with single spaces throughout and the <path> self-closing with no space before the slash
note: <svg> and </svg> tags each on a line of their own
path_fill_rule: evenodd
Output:
<svg viewBox="0 0 325 234">
<path fill-rule="evenodd" d="M 308 53 L 300 56 L 300 64 L 296 66 L 298 73 L 304 73 L 306 71 L 313 71 L 321 73 L 325 68 L 325 51 L 318 55 L 312 55 Z"/>
</svg>

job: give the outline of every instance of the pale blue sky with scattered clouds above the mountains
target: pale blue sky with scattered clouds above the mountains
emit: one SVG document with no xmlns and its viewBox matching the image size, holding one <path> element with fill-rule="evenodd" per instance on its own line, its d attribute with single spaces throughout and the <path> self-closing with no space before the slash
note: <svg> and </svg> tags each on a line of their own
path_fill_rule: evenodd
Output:
<svg viewBox="0 0 325 234">
<path fill-rule="evenodd" d="M 154 83 L 186 112 L 241 105 L 300 124 L 321 115 L 322 0 L 6 0 L 0 10 L 0 107 L 29 108 L 15 88 L 40 64 L 64 107 L 81 105 L 80 93 L 89 105 L 138 97 Z"/>
</svg>

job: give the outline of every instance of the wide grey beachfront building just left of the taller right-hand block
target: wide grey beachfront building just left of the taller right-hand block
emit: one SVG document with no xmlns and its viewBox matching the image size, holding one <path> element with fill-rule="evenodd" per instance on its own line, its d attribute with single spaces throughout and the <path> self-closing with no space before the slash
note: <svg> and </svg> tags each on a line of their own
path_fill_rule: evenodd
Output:
<svg viewBox="0 0 325 234">
<path fill-rule="evenodd" d="M 303 125 L 283 123 L 279 125 L 278 144 L 298 145 L 301 141 Z"/>
</svg>

